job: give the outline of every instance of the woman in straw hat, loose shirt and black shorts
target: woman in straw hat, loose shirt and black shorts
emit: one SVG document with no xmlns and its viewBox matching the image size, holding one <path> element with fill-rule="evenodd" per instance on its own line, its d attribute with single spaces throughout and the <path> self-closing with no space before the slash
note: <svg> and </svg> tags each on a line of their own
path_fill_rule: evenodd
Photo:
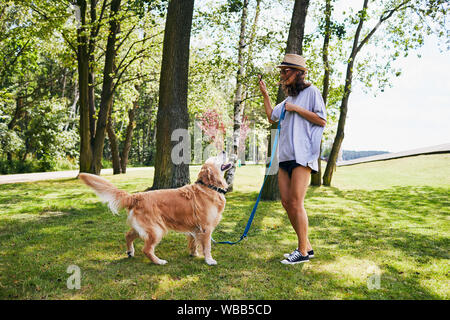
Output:
<svg viewBox="0 0 450 320">
<path fill-rule="evenodd" d="M 259 80 L 264 97 L 264 107 L 270 123 L 281 120 L 278 145 L 278 185 L 281 203 L 297 233 L 298 247 L 285 254 L 283 264 L 308 262 L 314 251 L 308 239 L 308 216 L 304 199 L 311 172 L 318 170 L 320 141 L 326 124 L 326 110 L 319 90 L 305 81 L 305 59 L 296 54 L 286 54 L 280 68 L 282 89 L 288 96 L 272 109 L 266 84 Z"/>
</svg>

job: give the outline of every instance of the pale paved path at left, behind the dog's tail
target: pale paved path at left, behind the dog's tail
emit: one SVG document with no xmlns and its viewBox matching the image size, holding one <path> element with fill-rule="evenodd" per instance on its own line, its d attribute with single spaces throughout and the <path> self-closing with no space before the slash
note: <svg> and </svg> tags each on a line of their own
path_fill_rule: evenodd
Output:
<svg viewBox="0 0 450 320">
<path fill-rule="evenodd" d="M 148 170 L 148 169 L 149 167 L 127 168 L 127 172 Z M 34 172 L 34 173 L 0 175 L 0 184 L 32 182 L 32 181 L 53 180 L 53 179 L 70 179 L 76 178 L 78 172 L 79 172 L 78 170 L 71 170 L 71 171 Z M 102 169 L 101 174 L 112 174 L 112 172 L 113 172 L 112 169 Z"/>
</svg>

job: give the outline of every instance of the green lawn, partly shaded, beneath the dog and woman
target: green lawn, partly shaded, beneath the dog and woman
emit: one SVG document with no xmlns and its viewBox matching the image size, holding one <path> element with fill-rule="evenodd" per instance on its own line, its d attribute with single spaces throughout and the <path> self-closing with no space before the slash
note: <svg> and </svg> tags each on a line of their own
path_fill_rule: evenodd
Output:
<svg viewBox="0 0 450 320">
<path fill-rule="evenodd" d="M 39 201 L 37 189 L 22 201 Z M 227 195 L 222 222 L 232 227 L 223 231 L 219 224 L 216 240 L 239 239 L 256 197 L 256 192 Z M 169 261 L 167 265 L 151 264 L 142 254 L 139 240 L 135 243 L 136 256 L 126 258 L 125 215 L 112 216 L 105 205 L 86 203 L 83 197 L 77 207 L 55 205 L 53 210 L 64 213 L 61 215 L 35 213 L 31 220 L 0 220 L 4 258 L 0 297 L 60 299 L 79 294 L 87 299 L 442 299 L 421 284 L 420 274 L 399 268 L 394 253 L 400 252 L 400 258 L 416 264 L 448 259 L 448 223 L 442 225 L 442 218 L 449 213 L 447 189 L 310 188 L 308 203 L 314 204 L 307 210 L 317 258 L 306 266 L 279 263 L 282 254 L 292 250 L 286 239 L 287 243 L 296 243 L 279 201 L 260 202 L 249 237 L 240 244 L 213 246 L 213 256 L 219 263 L 215 267 L 206 265 L 202 258 L 190 257 L 185 236 L 174 232 L 169 232 L 156 249 L 158 256 Z M 267 218 L 276 218 L 277 223 L 264 223 Z M 377 260 L 377 254 L 383 258 Z M 342 270 L 320 269 L 338 263 L 340 258 L 376 261 L 382 272 L 381 289 L 371 291 L 364 281 L 346 280 Z M 79 265 L 83 272 L 78 293 L 65 287 L 70 264 Z"/>
</svg>

